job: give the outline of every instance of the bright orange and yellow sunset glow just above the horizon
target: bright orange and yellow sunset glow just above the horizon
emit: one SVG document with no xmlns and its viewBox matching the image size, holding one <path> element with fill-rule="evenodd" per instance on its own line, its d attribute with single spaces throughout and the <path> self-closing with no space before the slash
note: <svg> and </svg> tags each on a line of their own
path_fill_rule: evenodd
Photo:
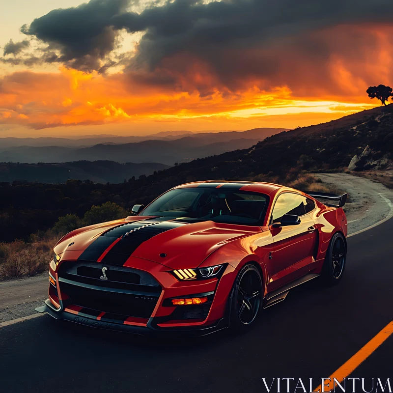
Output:
<svg viewBox="0 0 393 393">
<path fill-rule="evenodd" d="M 25 71 L 4 77 L 0 122 L 34 129 L 106 123 L 128 123 L 149 129 L 149 123 L 158 121 L 193 123 L 193 127 L 199 123 L 200 129 L 212 129 L 211 122 L 229 127 L 241 122 L 241 128 L 247 129 L 257 127 L 258 121 L 262 122 L 260 126 L 277 127 L 281 118 L 283 127 L 294 128 L 311 124 L 315 116 L 328 121 L 375 104 L 361 100 L 301 99 L 287 86 L 271 91 L 256 85 L 234 92 L 214 88 L 208 95 L 192 89 L 173 91 L 156 86 L 141 89 L 123 74 L 104 76 L 60 67 L 58 73 Z"/>
</svg>

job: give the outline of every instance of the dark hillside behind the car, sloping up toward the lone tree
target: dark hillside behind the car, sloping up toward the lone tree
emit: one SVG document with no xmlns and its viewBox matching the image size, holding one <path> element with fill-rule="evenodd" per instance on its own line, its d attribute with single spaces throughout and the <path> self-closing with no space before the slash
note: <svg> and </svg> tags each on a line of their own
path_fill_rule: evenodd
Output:
<svg viewBox="0 0 393 393">
<path fill-rule="evenodd" d="M 175 183 L 205 179 L 285 178 L 291 170 L 393 168 L 393 104 L 272 135 L 250 148 L 168 168 L 138 182 L 132 197 L 146 203 Z M 148 195 L 151 184 L 155 194 Z"/>
</svg>

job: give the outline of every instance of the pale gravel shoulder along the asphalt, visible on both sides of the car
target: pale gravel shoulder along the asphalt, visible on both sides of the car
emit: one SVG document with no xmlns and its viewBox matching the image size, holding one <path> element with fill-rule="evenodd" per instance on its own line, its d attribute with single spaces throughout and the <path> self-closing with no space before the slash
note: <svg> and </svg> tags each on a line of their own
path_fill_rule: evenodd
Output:
<svg viewBox="0 0 393 393">
<path fill-rule="evenodd" d="M 374 225 L 393 215 L 393 190 L 382 184 L 347 173 L 318 173 L 324 183 L 346 190 L 351 202 L 345 205 L 348 234 Z M 28 316 L 47 298 L 48 276 L 0 282 L 1 322 Z"/>
</svg>

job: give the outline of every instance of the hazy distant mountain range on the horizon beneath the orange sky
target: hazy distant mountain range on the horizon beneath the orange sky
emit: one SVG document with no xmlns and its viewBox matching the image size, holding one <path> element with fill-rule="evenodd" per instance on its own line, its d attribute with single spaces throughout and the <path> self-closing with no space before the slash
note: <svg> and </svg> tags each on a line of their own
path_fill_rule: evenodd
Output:
<svg viewBox="0 0 393 393">
<path fill-rule="evenodd" d="M 225 151 L 244 149 L 259 140 L 284 131 L 281 128 L 256 128 L 248 131 L 228 131 L 218 133 L 164 132 L 162 138 L 146 139 L 125 143 L 140 137 L 103 137 L 98 144 L 93 139 L 57 139 L 37 138 L 22 139 L 18 143 L 30 145 L 4 147 L 7 143 L 16 143 L 10 138 L 0 140 L 0 161 L 21 163 L 64 163 L 79 160 L 108 160 L 118 163 L 157 162 L 174 165 L 176 162 L 188 162 L 195 158 L 221 154 Z M 116 141 L 113 142 L 113 140 Z M 79 145 L 73 145 L 74 143 Z M 36 145 L 31 145 L 35 143 Z M 50 143 L 42 145 L 42 143 Z"/>
</svg>

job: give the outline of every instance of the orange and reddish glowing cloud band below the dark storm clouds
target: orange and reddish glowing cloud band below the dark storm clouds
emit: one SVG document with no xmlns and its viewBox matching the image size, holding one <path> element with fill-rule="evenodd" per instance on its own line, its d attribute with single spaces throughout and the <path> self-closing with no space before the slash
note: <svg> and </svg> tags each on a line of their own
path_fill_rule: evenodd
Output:
<svg viewBox="0 0 393 393">
<path fill-rule="evenodd" d="M 0 123 L 118 123 L 147 132 L 156 122 L 246 129 L 329 121 L 379 105 L 365 90 L 393 82 L 392 36 L 390 26 L 339 26 L 260 50 L 226 49 L 222 66 L 184 52 L 149 71 L 14 72 L 0 79 Z"/>
</svg>

